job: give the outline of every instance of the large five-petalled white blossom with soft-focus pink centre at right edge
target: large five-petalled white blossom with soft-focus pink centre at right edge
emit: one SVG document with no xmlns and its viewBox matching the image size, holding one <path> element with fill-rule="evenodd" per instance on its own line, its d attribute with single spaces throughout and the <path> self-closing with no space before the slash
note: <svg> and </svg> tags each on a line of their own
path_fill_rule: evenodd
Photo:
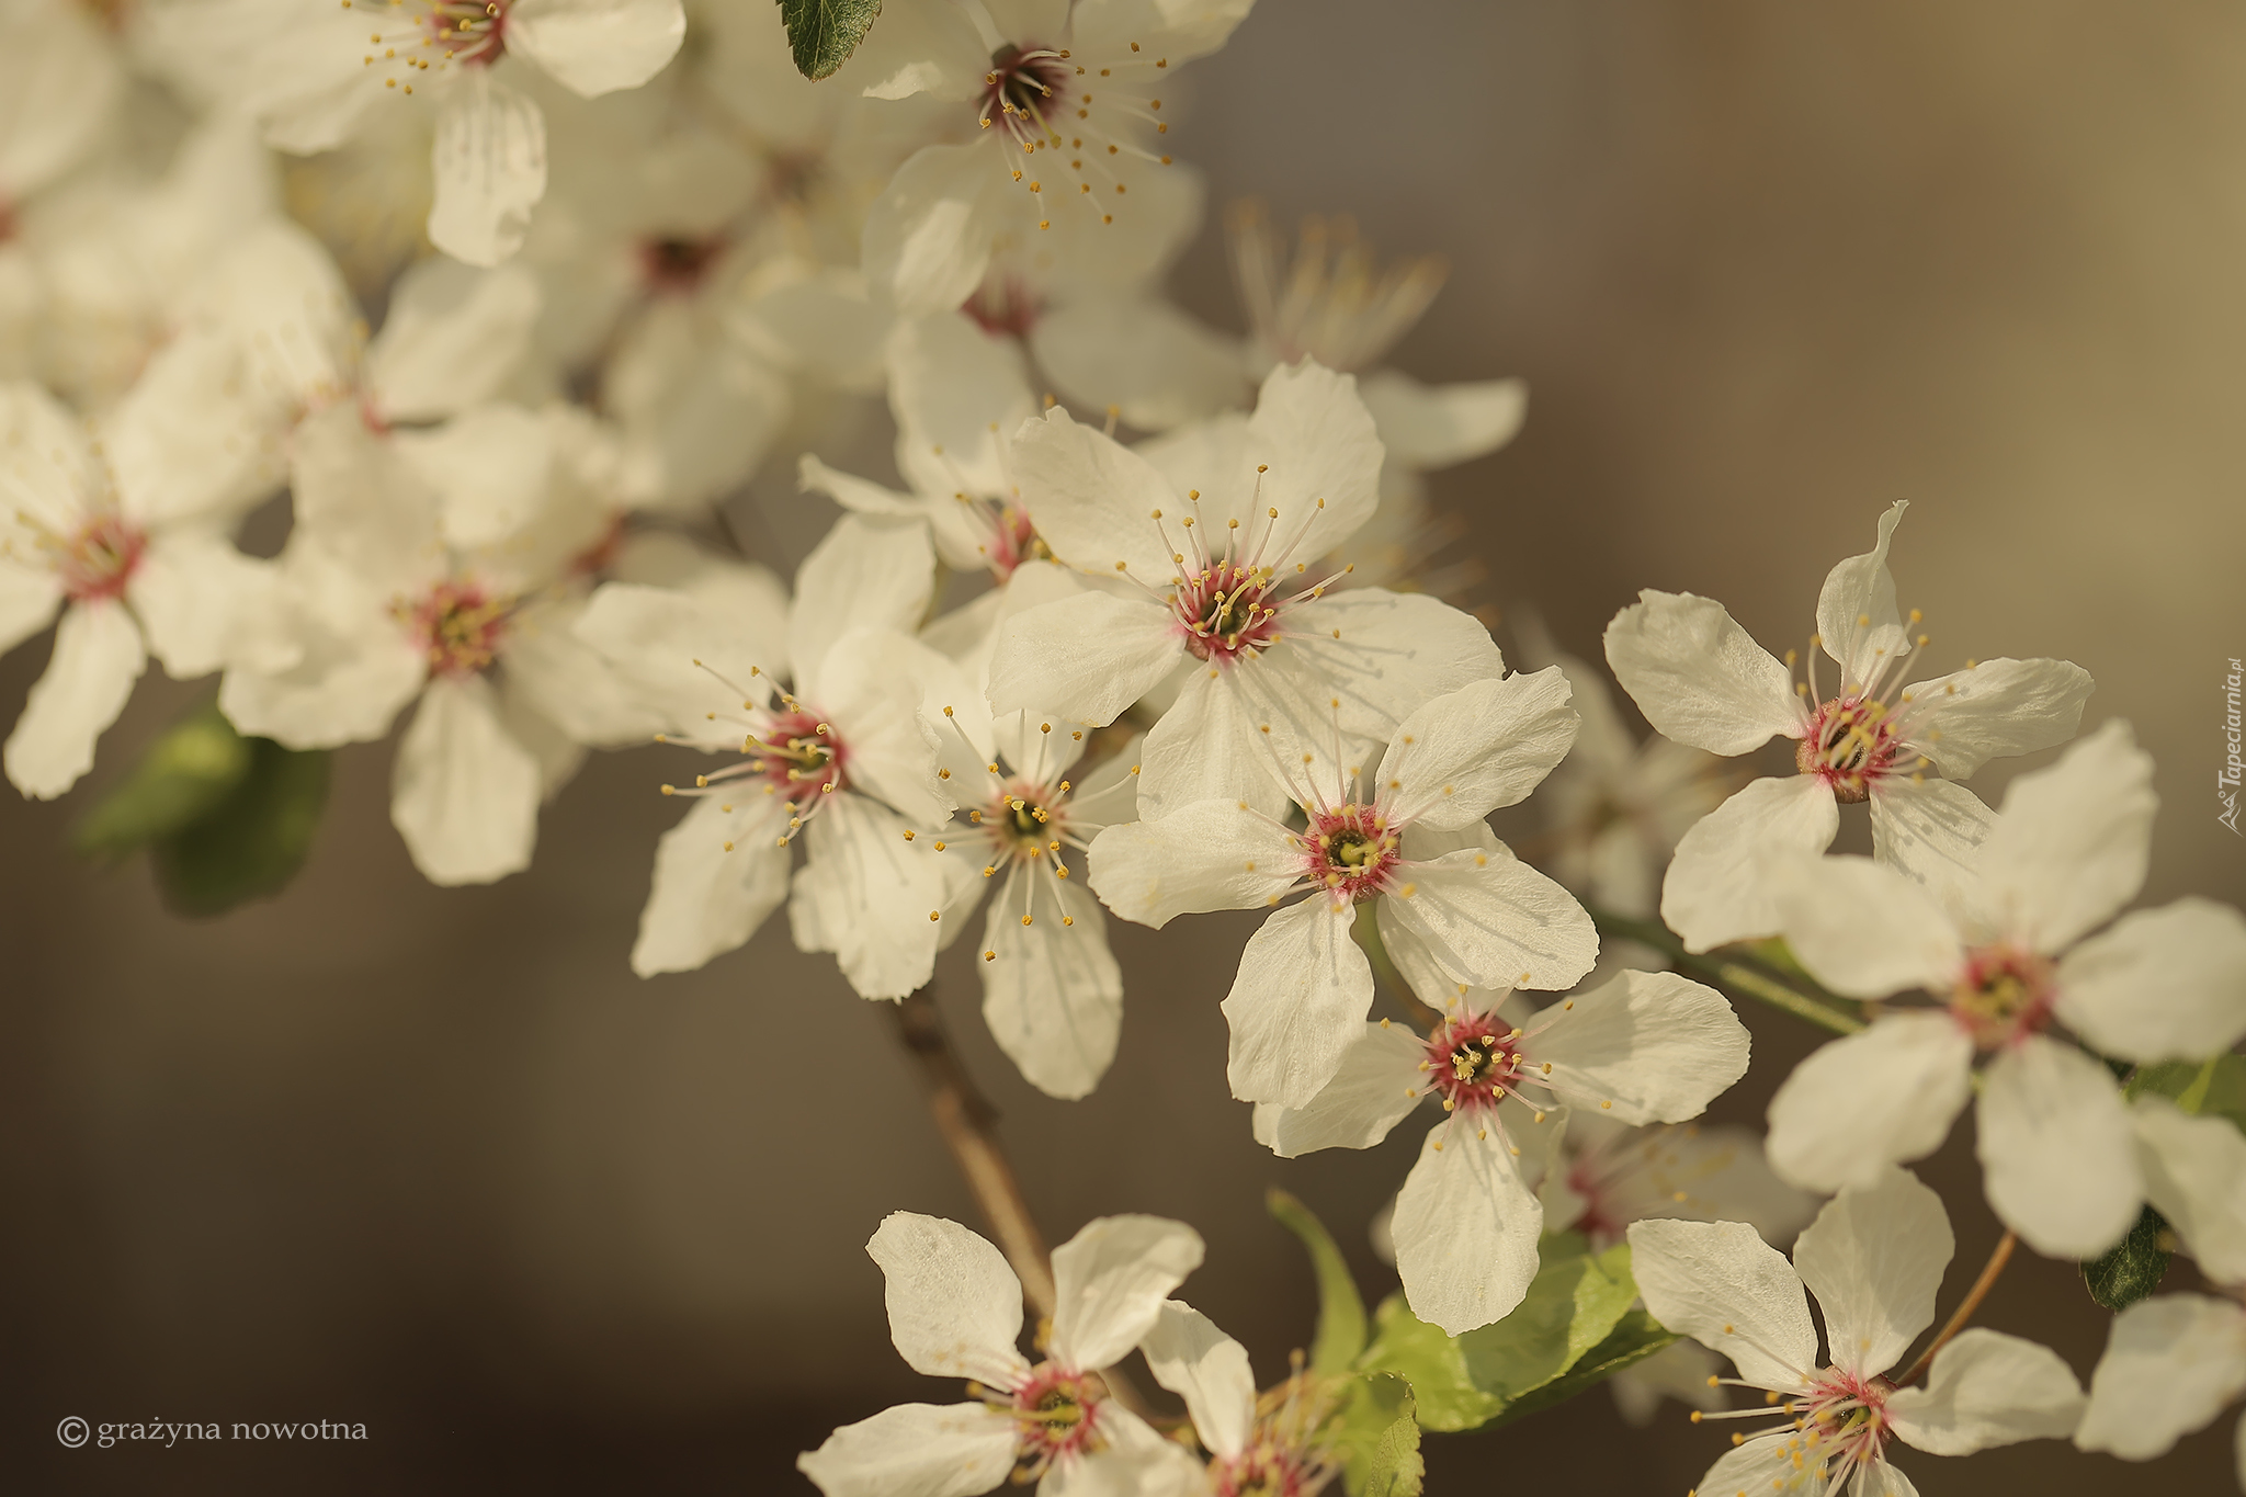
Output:
<svg viewBox="0 0 2246 1497">
<path fill-rule="evenodd" d="M 1781 929 L 1830 990 L 1923 990 L 1835 1039 L 1770 1102 L 1770 1163 L 1799 1185 L 1862 1183 L 1932 1154 L 1981 1071 L 1979 1154 L 1997 1214 L 2039 1252 L 2111 1248 L 2145 1201 L 2131 1113 L 2105 1062 L 2201 1059 L 2246 1035 L 2246 920 L 2185 898 L 2129 913 L 2145 882 L 2152 759 L 2107 723 L 2012 781 L 1979 878 L 1945 909 L 1893 869 L 1804 857 L 1774 875 Z"/>
</svg>

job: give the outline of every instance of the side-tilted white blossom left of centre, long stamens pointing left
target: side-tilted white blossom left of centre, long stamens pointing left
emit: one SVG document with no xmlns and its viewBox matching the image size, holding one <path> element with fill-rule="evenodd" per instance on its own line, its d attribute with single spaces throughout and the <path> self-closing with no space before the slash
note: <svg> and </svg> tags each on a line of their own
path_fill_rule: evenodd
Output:
<svg viewBox="0 0 2246 1497">
<path fill-rule="evenodd" d="M 901 999 L 928 981 L 959 925 L 943 911 L 975 875 L 921 835 L 955 806 L 921 714 L 923 682 L 948 662 L 905 633 L 932 570 L 925 527 L 844 516 L 784 610 L 636 584 L 593 595 L 575 633 L 624 673 L 663 738 L 734 754 L 667 788 L 694 808 L 656 848 L 633 972 L 701 967 L 786 898 L 795 945 L 833 952 L 862 997 Z M 791 893 L 797 835 L 809 857 Z"/>
</svg>

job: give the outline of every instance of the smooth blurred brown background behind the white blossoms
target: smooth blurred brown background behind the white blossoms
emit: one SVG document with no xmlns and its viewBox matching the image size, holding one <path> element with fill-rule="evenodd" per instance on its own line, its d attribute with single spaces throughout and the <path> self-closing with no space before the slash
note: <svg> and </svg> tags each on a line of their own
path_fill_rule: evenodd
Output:
<svg viewBox="0 0 2246 1497">
<path fill-rule="evenodd" d="M 1433 478 L 1503 610 L 1597 658 L 1637 588 L 1693 590 L 1781 651 L 1909 498 L 1893 570 L 1943 669 L 2084 664 L 2084 725 L 2129 718 L 2158 761 L 2145 900 L 2237 902 L 2215 772 L 2246 655 L 2242 79 L 2230 4 L 1264 0 L 1190 70 L 1179 150 L 1213 204 L 1352 213 L 1384 254 L 1449 258 L 1390 361 L 1530 382 L 1523 435 Z M 1215 227 L 1177 294 L 1242 328 Z M 766 476 L 734 518 L 786 572 L 829 512 Z M 0 714 L 43 662 L 0 662 Z M 809 1493 L 793 1457 L 831 1425 L 955 1396 L 896 1360 L 860 1252 L 892 1210 L 973 1221 L 885 1014 L 784 922 L 696 974 L 624 965 L 674 819 L 654 752 L 595 759 L 528 873 L 440 891 L 389 826 L 389 747 L 344 750 L 296 884 L 198 925 L 65 830 L 200 691 L 150 678 L 72 799 L 0 803 L 11 1488 Z M 1417 1131 L 1296 1163 L 1253 1145 L 1217 1012 L 1249 929 L 1114 929 L 1123 1050 L 1078 1104 L 990 1046 L 970 952 L 939 994 L 1049 1237 L 1193 1221 L 1184 1293 L 1271 1378 L 1312 1288 L 1264 1187 L 1386 1293 L 1363 1223 Z M 1813 1037 L 1743 1017 L 1756 1066 L 1714 1115 L 1759 1122 Z M 1970 1122 L 1923 1174 L 1956 1221 L 1947 1311 L 1997 1237 Z M 1981 1324 L 2087 1376 L 2107 1315 L 2024 1252 Z M 65 1414 L 371 1439 L 61 1450 Z M 2145 1468 L 2051 1443 L 1905 1466 L 1929 1497 L 2212 1493 L 2230 1425 Z M 1718 1450 L 1678 1405 L 1626 1432 L 1601 1389 L 1431 1436 L 1431 1490 L 1684 1490 Z"/>
</svg>

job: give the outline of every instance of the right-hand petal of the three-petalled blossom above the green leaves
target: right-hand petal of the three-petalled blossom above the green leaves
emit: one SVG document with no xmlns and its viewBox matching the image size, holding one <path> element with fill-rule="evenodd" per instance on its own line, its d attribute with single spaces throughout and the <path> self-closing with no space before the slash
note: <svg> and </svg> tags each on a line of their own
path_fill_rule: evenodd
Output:
<svg viewBox="0 0 2246 1497">
<path fill-rule="evenodd" d="M 1539 1014 L 1514 1046 L 1550 1066 L 1563 1102 L 1615 1122 L 1684 1122 L 1747 1073 L 1738 1014 L 1676 972 L 1622 972 L 1570 1003 Z"/>
</svg>

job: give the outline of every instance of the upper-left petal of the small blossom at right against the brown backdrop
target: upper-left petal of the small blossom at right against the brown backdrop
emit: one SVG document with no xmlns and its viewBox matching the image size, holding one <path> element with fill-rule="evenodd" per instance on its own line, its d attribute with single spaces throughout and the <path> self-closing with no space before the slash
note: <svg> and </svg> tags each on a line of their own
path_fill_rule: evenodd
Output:
<svg viewBox="0 0 2246 1497">
<path fill-rule="evenodd" d="M 1646 588 L 1606 626 L 1606 664 L 1655 732 L 1709 754 L 1801 736 L 1792 676 L 1723 604 Z"/>
</svg>

